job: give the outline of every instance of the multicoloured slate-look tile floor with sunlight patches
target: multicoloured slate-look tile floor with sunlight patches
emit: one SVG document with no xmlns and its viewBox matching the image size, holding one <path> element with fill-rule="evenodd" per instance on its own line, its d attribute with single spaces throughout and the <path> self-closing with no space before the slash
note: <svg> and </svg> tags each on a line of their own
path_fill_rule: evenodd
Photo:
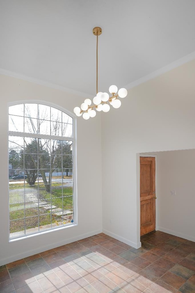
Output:
<svg viewBox="0 0 195 293">
<path fill-rule="evenodd" d="M 1 293 L 195 293 L 195 242 L 154 231 L 139 249 L 104 233 L 0 267 Z"/>
</svg>

